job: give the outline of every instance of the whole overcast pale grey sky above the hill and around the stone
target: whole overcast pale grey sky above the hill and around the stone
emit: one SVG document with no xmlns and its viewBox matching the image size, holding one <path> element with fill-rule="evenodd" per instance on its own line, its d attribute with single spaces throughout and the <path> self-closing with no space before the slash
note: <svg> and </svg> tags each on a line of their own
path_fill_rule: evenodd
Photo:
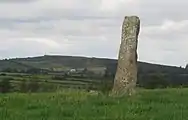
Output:
<svg viewBox="0 0 188 120">
<path fill-rule="evenodd" d="M 188 63 L 187 0 L 0 0 L 0 58 L 117 59 L 125 16 L 141 20 L 138 60 Z"/>
</svg>

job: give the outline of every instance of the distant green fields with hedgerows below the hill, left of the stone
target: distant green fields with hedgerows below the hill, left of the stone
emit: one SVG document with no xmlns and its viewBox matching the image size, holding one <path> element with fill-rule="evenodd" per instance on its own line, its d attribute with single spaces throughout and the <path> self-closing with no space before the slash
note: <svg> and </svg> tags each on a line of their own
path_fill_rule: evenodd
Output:
<svg viewBox="0 0 188 120">
<path fill-rule="evenodd" d="M 9 84 L 10 83 L 10 84 Z M 111 79 L 64 76 L 61 74 L 1 73 L 0 88 L 6 92 L 55 92 L 59 88 L 96 90 L 110 89 Z M 106 87 L 107 86 L 107 87 Z M 0 93 L 2 89 L 0 89 Z"/>
</svg>

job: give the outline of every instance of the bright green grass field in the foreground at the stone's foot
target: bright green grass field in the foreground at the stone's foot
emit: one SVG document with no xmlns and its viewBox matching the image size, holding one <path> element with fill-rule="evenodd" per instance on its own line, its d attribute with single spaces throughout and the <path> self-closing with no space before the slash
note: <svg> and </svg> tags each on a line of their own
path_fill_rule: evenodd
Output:
<svg viewBox="0 0 188 120">
<path fill-rule="evenodd" d="M 0 120 L 188 120 L 188 89 L 112 98 L 83 91 L 0 95 Z"/>
</svg>

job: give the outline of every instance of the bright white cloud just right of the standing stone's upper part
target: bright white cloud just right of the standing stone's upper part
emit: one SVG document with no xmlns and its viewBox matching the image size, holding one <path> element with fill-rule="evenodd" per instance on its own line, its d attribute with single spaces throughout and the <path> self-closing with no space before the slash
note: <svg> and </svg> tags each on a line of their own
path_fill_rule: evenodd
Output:
<svg viewBox="0 0 188 120">
<path fill-rule="evenodd" d="M 143 28 L 143 34 L 158 39 L 180 40 L 187 37 L 188 20 L 173 21 L 164 20 L 161 25 L 153 25 Z"/>
</svg>

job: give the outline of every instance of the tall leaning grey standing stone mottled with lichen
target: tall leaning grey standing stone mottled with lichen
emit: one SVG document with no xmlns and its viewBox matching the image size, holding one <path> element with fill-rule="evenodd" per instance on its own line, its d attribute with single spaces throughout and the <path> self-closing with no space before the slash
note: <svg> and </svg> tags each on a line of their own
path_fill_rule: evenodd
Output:
<svg viewBox="0 0 188 120">
<path fill-rule="evenodd" d="M 113 96 L 131 95 L 137 82 L 137 43 L 140 19 L 137 16 L 124 18 L 117 71 L 112 90 Z"/>
</svg>

